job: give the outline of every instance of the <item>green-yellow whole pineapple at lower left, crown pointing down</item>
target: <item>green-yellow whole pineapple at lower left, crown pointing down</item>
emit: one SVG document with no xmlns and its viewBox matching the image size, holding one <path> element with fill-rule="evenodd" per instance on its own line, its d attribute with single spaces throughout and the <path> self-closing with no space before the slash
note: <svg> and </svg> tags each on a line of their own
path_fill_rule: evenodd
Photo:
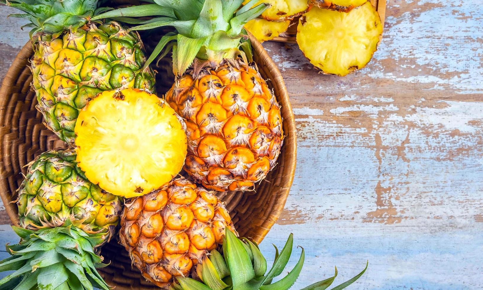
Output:
<svg viewBox="0 0 483 290">
<path fill-rule="evenodd" d="M 14 227 L 21 241 L 0 261 L 1 271 L 16 271 L 0 286 L 24 275 L 17 289 L 109 289 L 96 248 L 112 237 L 122 200 L 89 182 L 75 158 L 72 150 L 48 151 L 28 164 L 18 189 L 21 228 Z"/>
</svg>

